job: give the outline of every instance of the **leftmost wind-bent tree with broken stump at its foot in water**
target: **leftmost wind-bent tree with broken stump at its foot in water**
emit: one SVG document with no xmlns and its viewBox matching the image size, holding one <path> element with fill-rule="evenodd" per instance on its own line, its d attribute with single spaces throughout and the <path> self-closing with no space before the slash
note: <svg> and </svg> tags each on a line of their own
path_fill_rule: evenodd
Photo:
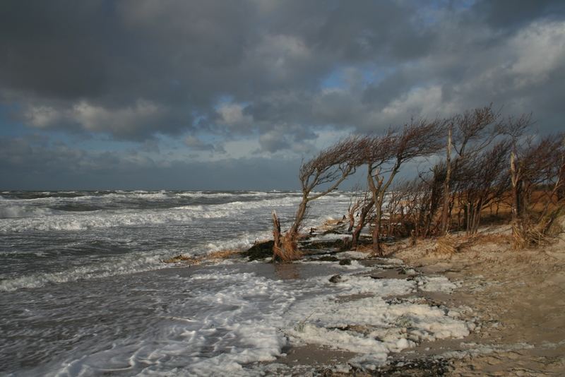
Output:
<svg viewBox="0 0 565 377">
<path fill-rule="evenodd" d="M 331 193 L 347 179 L 347 176 L 355 173 L 355 169 L 362 163 L 362 158 L 359 156 L 359 148 L 363 148 L 363 140 L 355 136 L 345 138 L 335 145 L 322 150 L 308 162 L 302 163 L 299 172 L 302 201 L 298 205 L 295 220 L 283 237 L 280 236 L 280 230 L 277 234 L 277 229 L 280 229 L 280 225 L 278 218 L 273 213 L 273 225 L 275 226 L 273 231 L 275 238 L 273 259 L 290 261 L 299 258 L 297 239 L 309 203 Z M 326 188 L 322 188 L 326 185 L 328 185 Z M 315 188 L 322 189 L 322 191 L 313 193 Z"/>
</svg>

